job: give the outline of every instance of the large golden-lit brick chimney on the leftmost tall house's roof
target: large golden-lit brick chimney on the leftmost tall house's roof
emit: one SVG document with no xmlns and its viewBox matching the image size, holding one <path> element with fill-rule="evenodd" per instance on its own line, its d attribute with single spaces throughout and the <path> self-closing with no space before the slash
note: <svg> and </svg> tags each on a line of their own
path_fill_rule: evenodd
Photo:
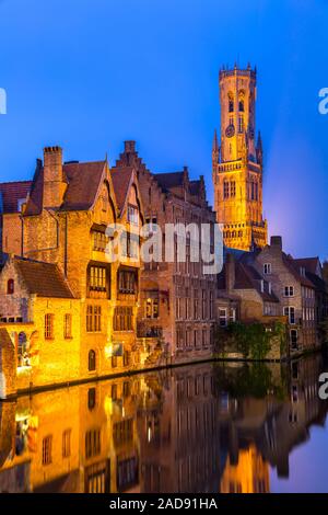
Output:
<svg viewBox="0 0 328 515">
<path fill-rule="evenodd" d="M 44 149 L 44 207 L 59 207 L 66 191 L 60 147 Z"/>
</svg>

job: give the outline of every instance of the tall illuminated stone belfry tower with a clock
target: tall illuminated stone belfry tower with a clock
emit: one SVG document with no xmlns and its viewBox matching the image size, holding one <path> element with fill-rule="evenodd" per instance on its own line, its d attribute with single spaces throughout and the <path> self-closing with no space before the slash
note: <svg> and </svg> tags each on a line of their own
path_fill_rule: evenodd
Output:
<svg viewBox="0 0 328 515">
<path fill-rule="evenodd" d="M 220 71 L 221 139 L 213 139 L 214 209 L 226 247 L 265 247 L 262 144 L 255 141 L 256 69 Z"/>
</svg>

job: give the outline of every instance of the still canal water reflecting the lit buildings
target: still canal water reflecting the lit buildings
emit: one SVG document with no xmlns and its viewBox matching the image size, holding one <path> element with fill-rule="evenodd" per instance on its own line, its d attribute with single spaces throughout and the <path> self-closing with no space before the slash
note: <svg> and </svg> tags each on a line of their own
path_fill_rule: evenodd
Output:
<svg viewBox="0 0 328 515">
<path fill-rule="evenodd" d="M 1 492 L 327 492 L 321 356 L 203 364 L 0 404 Z"/>
</svg>

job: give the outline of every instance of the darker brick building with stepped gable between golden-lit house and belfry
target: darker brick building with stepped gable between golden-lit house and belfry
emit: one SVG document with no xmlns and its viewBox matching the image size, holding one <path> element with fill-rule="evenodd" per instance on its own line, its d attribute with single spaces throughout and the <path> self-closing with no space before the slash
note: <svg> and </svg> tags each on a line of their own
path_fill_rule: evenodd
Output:
<svg viewBox="0 0 328 515">
<path fill-rule="evenodd" d="M 153 231 L 156 227 L 161 229 L 163 247 L 167 224 L 183 224 L 185 227 L 196 224 L 198 228 L 208 224 L 213 227 L 215 214 L 207 203 L 202 176 L 190 180 L 187 168 L 173 173 L 150 172 L 139 158 L 134 141 L 125 142 L 113 175 L 125 173 L 127 169 L 137 172 L 145 222 Z M 162 262 L 143 265 L 139 335 L 160 335 L 167 356 L 175 360 L 210 355 L 215 319 L 215 276 L 203 273 L 201 261 L 190 261 L 188 236 L 186 262 L 178 261 L 176 239 L 174 247 L 172 262 L 163 259 Z"/>
</svg>

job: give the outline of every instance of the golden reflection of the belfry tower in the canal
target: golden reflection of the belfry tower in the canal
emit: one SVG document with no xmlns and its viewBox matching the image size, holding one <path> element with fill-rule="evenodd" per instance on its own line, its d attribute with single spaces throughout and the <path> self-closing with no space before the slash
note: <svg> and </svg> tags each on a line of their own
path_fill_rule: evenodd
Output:
<svg viewBox="0 0 328 515">
<path fill-rule="evenodd" d="M 221 493 L 269 493 L 269 464 L 254 445 L 241 449 L 237 465 L 227 460 L 220 487 Z"/>
</svg>

